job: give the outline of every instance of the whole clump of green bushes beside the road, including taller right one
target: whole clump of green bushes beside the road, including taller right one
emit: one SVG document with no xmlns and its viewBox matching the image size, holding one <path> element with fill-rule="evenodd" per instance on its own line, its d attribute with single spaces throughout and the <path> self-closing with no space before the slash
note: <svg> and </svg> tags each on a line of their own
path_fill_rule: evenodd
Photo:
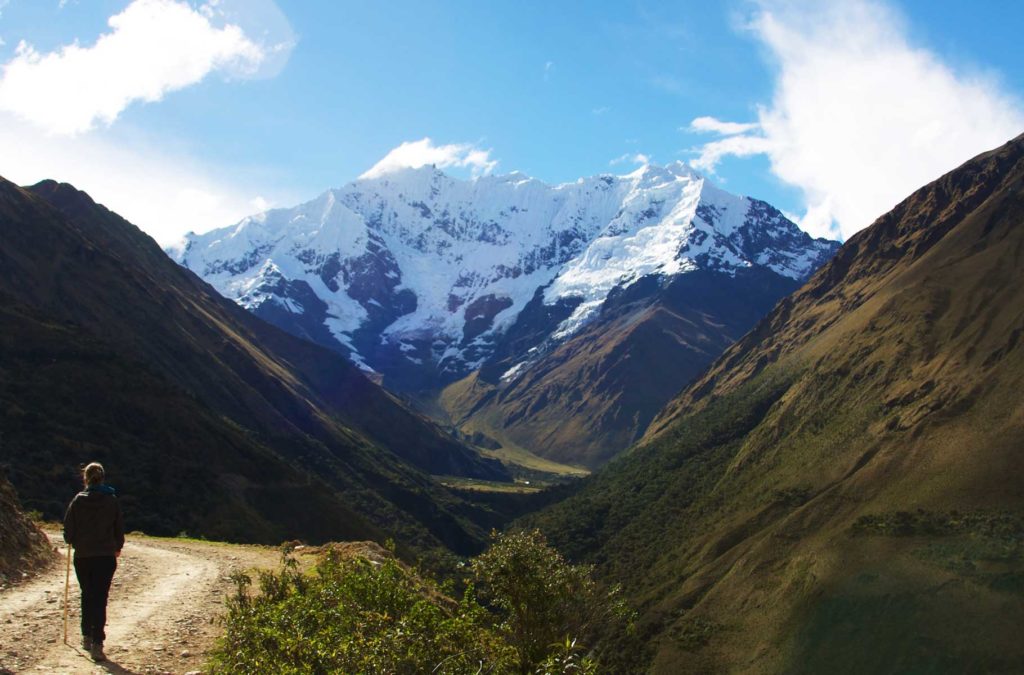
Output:
<svg viewBox="0 0 1024 675">
<path fill-rule="evenodd" d="M 306 574 L 286 552 L 280 572 L 259 574 L 258 592 L 234 576 L 211 670 L 587 675 L 602 631 L 627 626 L 617 589 L 600 590 L 589 567 L 567 563 L 537 532 L 497 537 L 470 569 L 494 611 L 472 583 L 454 600 L 451 583 L 394 559 L 332 549 Z"/>
</svg>

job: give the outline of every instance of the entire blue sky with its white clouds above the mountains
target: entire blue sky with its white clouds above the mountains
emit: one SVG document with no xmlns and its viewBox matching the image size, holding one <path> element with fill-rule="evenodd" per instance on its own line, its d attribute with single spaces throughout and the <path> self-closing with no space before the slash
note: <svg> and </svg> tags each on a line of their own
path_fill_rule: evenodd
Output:
<svg viewBox="0 0 1024 675">
<path fill-rule="evenodd" d="M 849 237 L 1024 131 L 1024 3 L 0 7 L 0 174 L 73 182 L 165 244 L 402 143 L 392 164 L 549 182 L 681 160 Z"/>
</svg>

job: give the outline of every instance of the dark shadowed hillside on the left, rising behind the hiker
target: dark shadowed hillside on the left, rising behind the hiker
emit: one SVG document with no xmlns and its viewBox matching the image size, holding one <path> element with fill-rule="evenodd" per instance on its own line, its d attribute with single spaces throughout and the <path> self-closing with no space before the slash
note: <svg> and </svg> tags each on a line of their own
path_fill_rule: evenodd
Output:
<svg viewBox="0 0 1024 675">
<path fill-rule="evenodd" d="M 495 515 L 413 468 L 501 478 L 337 354 L 274 329 L 70 185 L 0 183 L 0 462 L 59 517 L 108 464 L 129 529 L 476 550 Z"/>
</svg>

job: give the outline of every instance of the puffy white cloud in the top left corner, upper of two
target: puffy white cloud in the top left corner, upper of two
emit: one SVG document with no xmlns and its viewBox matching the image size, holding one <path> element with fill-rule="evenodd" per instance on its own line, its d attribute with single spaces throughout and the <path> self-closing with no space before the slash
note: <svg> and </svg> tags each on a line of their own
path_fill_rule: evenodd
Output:
<svg viewBox="0 0 1024 675">
<path fill-rule="evenodd" d="M 92 46 L 75 42 L 44 54 L 22 42 L 3 66 L 0 110 L 51 133 L 81 133 L 214 72 L 257 76 L 269 51 L 288 48 L 257 44 L 234 24 L 215 26 L 218 5 L 133 0 Z"/>
</svg>

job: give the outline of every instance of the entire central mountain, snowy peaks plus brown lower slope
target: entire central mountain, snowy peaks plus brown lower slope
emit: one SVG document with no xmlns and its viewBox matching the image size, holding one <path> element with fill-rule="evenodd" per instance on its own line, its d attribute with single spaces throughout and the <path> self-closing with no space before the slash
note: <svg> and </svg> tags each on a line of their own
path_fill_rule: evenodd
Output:
<svg viewBox="0 0 1024 675">
<path fill-rule="evenodd" d="M 425 166 L 177 259 L 501 456 L 595 468 L 836 247 L 678 162 L 559 185 Z"/>
</svg>

